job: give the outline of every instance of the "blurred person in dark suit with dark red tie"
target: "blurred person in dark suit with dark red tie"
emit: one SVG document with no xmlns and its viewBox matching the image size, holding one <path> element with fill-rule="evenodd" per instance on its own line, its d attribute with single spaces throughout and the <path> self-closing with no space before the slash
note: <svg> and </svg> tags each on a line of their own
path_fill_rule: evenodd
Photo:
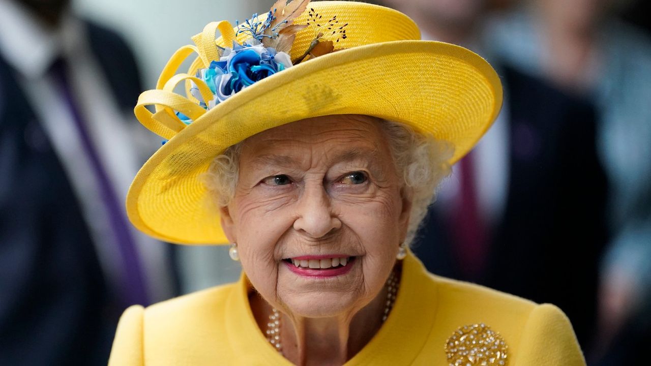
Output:
<svg viewBox="0 0 651 366">
<path fill-rule="evenodd" d="M 489 1 L 383 3 L 411 16 L 423 39 L 486 57 L 505 86 L 501 115 L 453 167 L 415 251 L 436 274 L 559 305 L 587 348 L 607 236 L 594 109 L 495 57 L 482 41 Z"/>
</svg>

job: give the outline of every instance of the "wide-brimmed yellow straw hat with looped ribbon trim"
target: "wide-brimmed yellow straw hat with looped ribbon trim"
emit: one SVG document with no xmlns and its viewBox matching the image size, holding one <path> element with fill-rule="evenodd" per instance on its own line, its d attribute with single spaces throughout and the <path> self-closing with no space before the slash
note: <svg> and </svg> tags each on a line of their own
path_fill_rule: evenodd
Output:
<svg viewBox="0 0 651 366">
<path fill-rule="evenodd" d="M 192 38 L 196 46 L 174 53 L 156 89 L 141 94 L 136 117 L 169 141 L 143 165 L 129 190 L 126 208 L 135 227 L 167 242 L 226 244 L 202 174 L 226 148 L 288 122 L 340 114 L 402 122 L 452 143 L 452 164 L 497 117 L 502 104 L 499 77 L 475 53 L 420 40 L 415 23 L 390 8 L 347 1 L 320 1 L 305 8 L 307 2 L 294 0 L 285 7 L 278 1 L 277 12 L 272 7 L 270 14 L 235 28 L 227 21 L 206 25 Z M 288 17 L 292 9 L 294 19 Z M 281 21 L 283 17 L 288 21 Z M 256 30 L 268 27 L 266 35 L 256 38 L 268 44 L 282 38 L 274 31 L 290 25 L 296 27 L 280 35 L 293 41 L 291 49 L 275 45 L 286 49 L 294 64 L 278 62 L 275 74 L 217 100 L 214 85 L 211 89 L 205 82 L 210 67 L 217 67 L 213 61 L 223 60 L 231 51 L 227 48 L 247 46 Z M 314 47 L 318 43 L 322 45 Z M 176 74 L 193 53 L 198 56 L 187 74 Z M 183 84 L 185 96 L 174 92 Z M 226 89 L 233 86 L 225 84 Z"/>
</svg>

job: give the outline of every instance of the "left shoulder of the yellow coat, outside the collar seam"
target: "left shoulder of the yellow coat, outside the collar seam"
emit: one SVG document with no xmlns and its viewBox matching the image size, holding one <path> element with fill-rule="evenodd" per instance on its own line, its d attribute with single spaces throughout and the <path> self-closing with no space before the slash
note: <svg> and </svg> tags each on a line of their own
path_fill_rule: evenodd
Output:
<svg viewBox="0 0 651 366">
<path fill-rule="evenodd" d="M 209 365 L 207 360 L 223 359 L 229 353 L 223 349 L 228 348 L 225 304 L 237 285 L 193 292 L 146 309 L 129 307 L 118 322 L 109 366 Z"/>
</svg>

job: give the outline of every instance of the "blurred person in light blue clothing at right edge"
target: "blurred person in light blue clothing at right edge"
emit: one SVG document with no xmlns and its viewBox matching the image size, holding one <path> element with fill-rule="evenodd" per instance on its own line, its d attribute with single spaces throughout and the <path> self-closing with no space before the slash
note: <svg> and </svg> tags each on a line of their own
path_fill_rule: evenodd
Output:
<svg viewBox="0 0 651 366">
<path fill-rule="evenodd" d="M 627 1 L 520 5 L 492 22 L 492 48 L 598 107 L 613 238 L 602 262 L 597 333 L 598 349 L 610 351 L 594 359 L 636 364 L 645 349 L 638 342 L 651 330 L 651 38 L 616 18 Z"/>
</svg>

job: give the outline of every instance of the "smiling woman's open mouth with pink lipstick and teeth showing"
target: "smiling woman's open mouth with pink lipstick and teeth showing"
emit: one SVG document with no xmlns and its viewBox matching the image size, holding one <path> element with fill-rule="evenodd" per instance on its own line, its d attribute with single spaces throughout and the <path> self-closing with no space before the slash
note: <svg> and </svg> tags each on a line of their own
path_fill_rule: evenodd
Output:
<svg viewBox="0 0 651 366">
<path fill-rule="evenodd" d="M 348 273 L 355 262 L 355 257 L 335 255 L 303 256 L 283 259 L 286 266 L 298 275 L 308 277 L 332 277 Z"/>
</svg>

